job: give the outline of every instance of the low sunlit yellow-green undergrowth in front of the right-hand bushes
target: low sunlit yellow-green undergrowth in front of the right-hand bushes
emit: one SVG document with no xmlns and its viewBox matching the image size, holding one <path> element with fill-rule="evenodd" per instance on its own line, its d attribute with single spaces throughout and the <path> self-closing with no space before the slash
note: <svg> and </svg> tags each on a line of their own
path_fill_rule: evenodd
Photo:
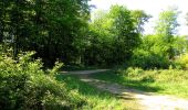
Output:
<svg viewBox="0 0 188 110">
<path fill-rule="evenodd" d="M 184 87 L 184 82 L 186 82 L 188 73 L 186 70 L 179 69 L 150 69 L 150 70 L 143 70 L 140 68 L 128 68 L 126 73 L 123 73 L 124 77 L 139 80 L 142 82 L 156 82 L 163 85 L 175 84 Z M 163 87 L 160 87 L 163 88 Z"/>
</svg>

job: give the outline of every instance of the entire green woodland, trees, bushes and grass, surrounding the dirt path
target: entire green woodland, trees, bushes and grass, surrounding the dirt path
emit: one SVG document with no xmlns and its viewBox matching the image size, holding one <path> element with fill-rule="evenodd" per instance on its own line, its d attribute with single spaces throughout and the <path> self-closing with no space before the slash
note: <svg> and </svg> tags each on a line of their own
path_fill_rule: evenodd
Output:
<svg viewBox="0 0 188 110">
<path fill-rule="evenodd" d="M 0 0 L 1 110 L 145 110 L 81 78 L 188 98 L 188 35 L 178 34 L 178 8 L 161 11 L 145 34 L 153 15 L 144 10 L 114 4 L 92 15 L 88 2 Z M 188 26 L 188 12 L 185 20 Z"/>
</svg>

